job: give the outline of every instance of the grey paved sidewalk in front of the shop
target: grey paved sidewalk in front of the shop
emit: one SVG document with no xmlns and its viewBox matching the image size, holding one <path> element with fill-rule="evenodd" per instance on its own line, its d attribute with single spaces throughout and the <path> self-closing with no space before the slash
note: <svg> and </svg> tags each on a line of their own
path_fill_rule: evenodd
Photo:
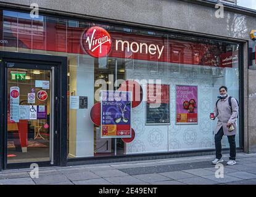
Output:
<svg viewBox="0 0 256 197">
<path fill-rule="evenodd" d="M 67 167 L 41 167 L 32 179 L 30 169 L 0 171 L 1 185 L 256 185 L 256 154 L 237 153 L 237 164 L 216 178 L 213 155 L 130 161 Z"/>
</svg>

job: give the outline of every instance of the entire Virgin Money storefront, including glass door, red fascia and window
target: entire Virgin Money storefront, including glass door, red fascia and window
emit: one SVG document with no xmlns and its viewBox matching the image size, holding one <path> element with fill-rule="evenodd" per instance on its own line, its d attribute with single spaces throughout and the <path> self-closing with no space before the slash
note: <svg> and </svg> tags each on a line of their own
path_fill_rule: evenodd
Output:
<svg viewBox="0 0 256 197">
<path fill-rule="evenodd" d="M 10 10 L 0 19 L 2 169 L 211 151 L 218 88 L 241 98 L 239 43 Z"/>
</svg>

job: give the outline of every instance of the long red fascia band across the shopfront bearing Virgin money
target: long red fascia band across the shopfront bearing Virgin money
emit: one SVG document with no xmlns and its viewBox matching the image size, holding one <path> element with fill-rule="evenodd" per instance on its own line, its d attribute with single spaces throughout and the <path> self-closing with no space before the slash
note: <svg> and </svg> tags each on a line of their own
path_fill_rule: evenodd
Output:
<svg viewBox="0 0 256 197">
<path fill-rule="evenodd" d="M 17 23 L 16 17 L 4 18 L 4 23 Z M 123 32 L 115 29 L 104 30 L 100 26 L 90 28 L 72 27 L 57 20 L 44 20 L 33 22 L 38 31 L 25 31 L 17 33 L 15 25 L 10 26 L 7 42 L 1 43 L 4 47 L 20 47 L 24 49 L 47 50 L 54 52 L 67 52 L 71 54 L 88 54 L 95 58 L 117 57 L 136 60 L 183 63 L 189 65 L 230 67 L 233 63 L 225 55 L 211 54 L 213 44 L 203 44 L 192 41 L 179 41 L 160 35 L 137 34 Z M 30 19 L 19 20 L 19 26 L 31 24 Z M 0 26 L 1 32 L 2 26 Z M 40 30 L 40 31 L 39 31 Z M 41 32 L 44 30 L 44 33 Z M 0 34 L 0 40 L 1 38 Z M 218 46 L 217 46 L 218 47 Z M 213 61 L 217 59 L 216 61 Z"/>
</svg>

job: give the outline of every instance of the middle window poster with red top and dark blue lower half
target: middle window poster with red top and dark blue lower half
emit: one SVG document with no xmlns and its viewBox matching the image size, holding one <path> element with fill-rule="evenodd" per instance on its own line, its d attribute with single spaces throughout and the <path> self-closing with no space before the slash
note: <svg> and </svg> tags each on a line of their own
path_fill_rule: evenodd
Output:
<svg viewBox="0 0 256 197">
<path fill-rule="evenodd" d="M 146 125 L 170 124 L 170 87 L 147 84 Z"/>
</svg>

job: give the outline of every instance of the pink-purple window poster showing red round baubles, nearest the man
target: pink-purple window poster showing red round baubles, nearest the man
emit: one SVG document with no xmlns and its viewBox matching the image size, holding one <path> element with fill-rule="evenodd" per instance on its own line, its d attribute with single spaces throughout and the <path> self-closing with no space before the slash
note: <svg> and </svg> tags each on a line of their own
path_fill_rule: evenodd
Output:
<svg viewBox="0 0 256 197">
<path fill-rule="evenodd" d="M 197 86 L 176 85 L 176 124 L 197 124 Z"/>
</svg>

